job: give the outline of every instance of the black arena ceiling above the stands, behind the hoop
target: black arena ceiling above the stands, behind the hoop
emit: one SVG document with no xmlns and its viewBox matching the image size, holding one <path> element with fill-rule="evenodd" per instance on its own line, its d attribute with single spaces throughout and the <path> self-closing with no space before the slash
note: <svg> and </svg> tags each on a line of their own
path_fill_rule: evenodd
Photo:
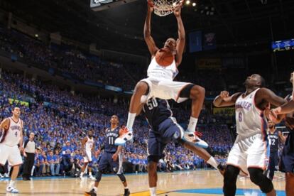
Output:
<svg viewBox="0 0 294 196">
<path fill-rule="evenodd" d="M 191 0 L 192 1 L 192 0 Z M 193 1 L 192 1 L 193 2 Z M 185 5 L 183 21 L 187 33 L 217 33 L 217 44 L 249 44 L 294 38 L 293 0 L 196 0 L 197 6 Z M 89 0 L 0 0 L 1 9 L 11 11 L 28 23 L 50 32 L 101 48 L 117 48 L 144 53 L 143 22 L 146 1 L 92 11 Z M 207 8 L 214 8 L 207 15 Z M 202 11 L 203 10 L 203 11 Z M 152 33 L 158 45 L 169 36 L 176 36 L 173 15 L 153 16 Z"/>
</svg>

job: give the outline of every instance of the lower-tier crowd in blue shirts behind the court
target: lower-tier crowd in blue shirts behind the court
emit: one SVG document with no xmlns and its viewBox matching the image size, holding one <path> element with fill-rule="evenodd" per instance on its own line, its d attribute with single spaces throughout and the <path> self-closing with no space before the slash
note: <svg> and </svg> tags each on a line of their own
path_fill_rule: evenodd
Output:
<svg viewBox="0 0 294 196">
<path fill-rule="evenodd" d="M 18 101 L 27 102 L 21 105 Z M 128 103 L 114 104 L 109 99 L 73 95 L 53 85 L 31 80 L 23 75 L 3 70 L 0 79 L 0 119 L 11 116 L 13 106 L 21 107 L 24 121 L 25 139 L 31 132 L 36 134 L 38 150 L 33 175 L 72 175 L 82 168 L 82 138 L 87 131 L 94 130 L 95 152 L 93 173 L 97 170 L 99 146 L 104 141 L 104 132 L 109 127 L 109 119 L 117 114 L 121 124 L 126 121 Z M 186 111 L 186 112 L 184 112 Z M 178 121 L 186 124 L 188 110 L 175 108 Z M 199 122 L 199 131 L 210 145 L 210 151 L 217 160 L 224 161 L 232 138 L 227 125 L 221 125 L 207 109 L 204 109 Z M 131 165 L 130 172 L 144 172 L 147 164 L 148 125 L 138 118 L 134 125 L 134 142 L 124 148 L 124 164 Z M 169 144 L 165 158 L 160 160 L 158 170 L 190 170 L 204 168 L 207 164 L 180 146 Z M 1 171 L 1 170 L 0 170 Z M 6 172 L 2 171 L 1 174 Z"/>
</svg>

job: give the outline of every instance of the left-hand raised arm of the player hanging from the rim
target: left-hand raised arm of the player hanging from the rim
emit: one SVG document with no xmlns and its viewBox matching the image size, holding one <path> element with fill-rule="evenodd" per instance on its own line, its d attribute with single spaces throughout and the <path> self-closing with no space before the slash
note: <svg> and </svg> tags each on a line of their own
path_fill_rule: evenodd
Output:
<svg viewBox="0 0 294 196">
<path fill-rule="evenodd" d="M 151 36 L 151 15 L 153 12 L 153 1 L 148 0 L 147 4 L 147 15 L 144 24 L 144 40 L 148 46 L 148 50 L 151 53 L 151 56 L 155 55 L 158 50 L 156 43 L 154 42 Z"/>
</svg>

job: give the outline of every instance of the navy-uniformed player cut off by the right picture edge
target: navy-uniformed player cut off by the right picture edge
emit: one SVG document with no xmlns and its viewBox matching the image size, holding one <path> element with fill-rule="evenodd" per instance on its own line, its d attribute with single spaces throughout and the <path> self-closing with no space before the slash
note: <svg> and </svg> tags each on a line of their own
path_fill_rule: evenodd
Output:
<svg viewBox="0 0 294 196">
<path fill-rule="evenodd" d="M 287 104 L 273 109 L 275 114 L 286 114 L 285 124 L 289 134 L 285 141 L 281 157 L 281 171 L 285 172 L 285 192 L 287 196 L 294 195 L 294 72 L 291 73 L 290 82 L 293 84 L 292 94 L 288 94 L 285 99 Z"/>
</svg>

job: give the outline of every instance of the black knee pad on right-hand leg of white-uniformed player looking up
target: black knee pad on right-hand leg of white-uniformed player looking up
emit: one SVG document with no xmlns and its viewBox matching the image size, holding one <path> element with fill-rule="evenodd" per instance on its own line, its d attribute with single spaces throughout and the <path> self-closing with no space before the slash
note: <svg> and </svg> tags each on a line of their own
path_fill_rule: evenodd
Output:
<svg viewBox="0 0 294 196">
<path fill-rule="evenodd" d="M 266 175 L 263 174 L 263 170 L 258 168 L 248 168 L 248 170 L 251 182 L 258 185 L 262 192 L 268 193 L 273 190 L 273 183 L 266 178 Z"/>
</svg>

